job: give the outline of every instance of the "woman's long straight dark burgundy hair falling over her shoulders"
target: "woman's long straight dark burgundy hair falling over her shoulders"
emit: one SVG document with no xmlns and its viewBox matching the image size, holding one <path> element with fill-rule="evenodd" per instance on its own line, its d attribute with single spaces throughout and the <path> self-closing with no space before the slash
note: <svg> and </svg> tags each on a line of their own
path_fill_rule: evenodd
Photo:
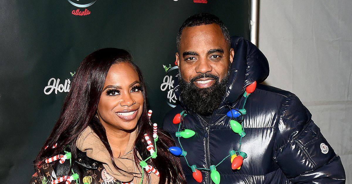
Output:
<svg viewBox="0 0 352 184">
<path fill-rule="evenodd" d="M 71 83 L 71 89 L 64 101 L 61 109 L 61 114 L 52 130 L 49 138 L 45 141 L 43 148 L 34 160 L 34 165 L 38 166 L 43 163 L 43 160 L 53 155 L 62 154 L 65 148 L 71 150 L 73 159 L 77 155 L 76 140 L 78 135 L 87 127 L 90 126 L 93 131 L 99 136 L 100 140 L 108 150 L 111 159 L 114 160 L 112 149 L 109 145 L 105 128 L 95 117 L 98 107 L 100 95 L 105 83 L 106 75 L 113 64 L 130 63 L 139 76 L 139 82 L 142 85 L 142 93 L 144 97 L 143 112 L 138 120 L 137 139 L 134 143 L 134 159 L 139 167 L 139 153 L 142 158 L 149 154 L 144 141 L 144 134 L 150 135 L 153 141 L 152 126 L 147 115 L 147 96 L 146 87 L 142 72 L 136 64 L 132 62 L 132 56 L 126 50 L 117 48 L 105 48 L 97 50 L 83 59 Z M 162 130 L 158 130 L 157 149 L 158 156 L 155 159 L 149 159 L 148 163 L 155 166 L 159 173 L 159 183 L 186 183 L 182 172 L 180 160 L 172 156 L 168 148 L 174 146 L 174 141 L 165 134 Z M 56 148 L 51 148 L 57 143 Z M 48 148 L 45 149 L 45 146 Z M 145 158 L 144 158 L 145 159 Z M 119 169 L 115 162 L 114 166 Z M 147 175 L 148 176 L 148 175 Z M 148 177 L 148 180 L 150 178 Z"/>
</svg>

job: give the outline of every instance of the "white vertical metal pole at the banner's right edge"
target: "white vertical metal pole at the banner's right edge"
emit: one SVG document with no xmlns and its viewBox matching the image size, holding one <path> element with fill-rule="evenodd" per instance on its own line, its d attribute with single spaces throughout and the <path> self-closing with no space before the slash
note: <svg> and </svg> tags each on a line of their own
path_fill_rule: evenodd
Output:
<svg viewBox="0 0 352 184">
<path fill-rule="evenodd" d="M 251 0 L 251 42 L 258 46 L 258 4 L 259 0 Z"/>
</svg>

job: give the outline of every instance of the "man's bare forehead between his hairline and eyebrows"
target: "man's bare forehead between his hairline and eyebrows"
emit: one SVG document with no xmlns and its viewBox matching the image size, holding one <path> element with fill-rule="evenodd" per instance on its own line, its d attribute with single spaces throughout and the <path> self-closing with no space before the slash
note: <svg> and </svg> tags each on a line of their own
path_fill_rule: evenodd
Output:
<svg viewBox="0 0 352 184">
<path fill-rule="evenodd" d="M 182 30 L 180 49 L 209 50 L 214 49 L 215 47 L 223 48 L 224 50 L 227 47 L 226 40 L 218 24 L 185 27 Z"/>
</svg>

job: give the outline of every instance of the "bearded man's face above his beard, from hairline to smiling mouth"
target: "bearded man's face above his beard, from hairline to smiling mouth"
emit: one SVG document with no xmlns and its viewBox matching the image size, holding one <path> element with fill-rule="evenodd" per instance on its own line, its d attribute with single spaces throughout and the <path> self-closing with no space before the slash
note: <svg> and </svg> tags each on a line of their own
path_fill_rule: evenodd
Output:
<svg viewBox="0 0 352 184">
<path fill-rule="evenodd" d="M 221 81 L 227 75 L 233 54 L 220 26 L 208 24 L 183 29 L 176 60 L 186 82 L 191 82 L 201 74 L 212 74 Z M 198 88 L 207 88 L 214 84 L 215 79 L 208 76 L 192 82 Z"/>
</svg>

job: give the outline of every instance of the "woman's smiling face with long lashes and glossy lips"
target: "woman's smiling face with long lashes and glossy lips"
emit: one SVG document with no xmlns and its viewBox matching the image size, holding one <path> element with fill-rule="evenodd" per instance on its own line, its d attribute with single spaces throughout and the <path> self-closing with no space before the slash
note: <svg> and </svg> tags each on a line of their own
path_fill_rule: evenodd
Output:
<svg viewBox="0 0 352 184">
<path fill-rule="evenodd" d="M 130 63 L 114 64 L 108 71 L 98 104 L 98 117 L 105 129 L 130 131 L 143 110 L 142 86 Z"/>
</svg>

